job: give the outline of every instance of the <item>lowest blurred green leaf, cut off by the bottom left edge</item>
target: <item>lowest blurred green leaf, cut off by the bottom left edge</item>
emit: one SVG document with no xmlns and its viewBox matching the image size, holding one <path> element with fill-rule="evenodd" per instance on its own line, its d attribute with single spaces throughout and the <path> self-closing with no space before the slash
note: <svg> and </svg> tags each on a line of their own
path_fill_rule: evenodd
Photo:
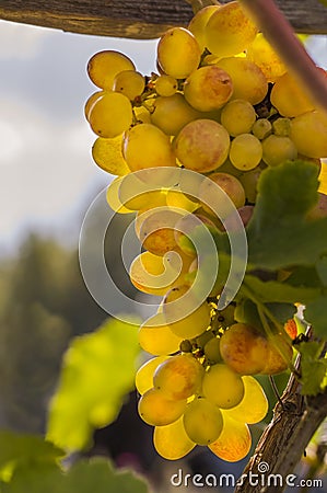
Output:
<svg viewBox="0 0 327 493">
<path fill-rule="evenodd" d="M 68 472 L 36 467 L 19 470 L 3 493 L 148 493 L 148 484 L 131 471 L 114 470 L 104 459 L 80 461 Z"/>
</svg>

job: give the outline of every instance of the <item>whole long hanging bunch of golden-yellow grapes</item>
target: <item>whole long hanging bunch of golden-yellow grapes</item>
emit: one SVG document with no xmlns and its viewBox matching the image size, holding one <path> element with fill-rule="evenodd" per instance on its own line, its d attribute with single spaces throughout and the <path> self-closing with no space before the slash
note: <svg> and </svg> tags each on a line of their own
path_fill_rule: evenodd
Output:
<svg viewBox="0 0 327 493">
<path fill-rule="evenodd" d="M 156 53 L 157 73 L 150 76 L 121 53 L 95 54 L 87 72 L 98 90 L 85 104 L 97 136 L 93 159 L 117 176 L 108 204 L 136 213 L 142 252 L 130 279 L 163 297 L 139 329 L 140 346 L 152 355 L 136 376 L 139 414 L 154 426 L 154 446 L 166 459 L 200 445 L 237 461 L 250 448 L 248 424 L 268 410 L 254 376 L 291 367 L 296 326 L 292 319 L 262 326 L 237 298 L 221 309 L 223 264 L 203 299 L 201 283 L 213 263 L 195 244 L 206 232 L 220 238 L 240 230 L 229 221 L 231 204 L 247 226 L 267 168 L 301 158 L 319 173 L 327 118 L 237 1 L 206 7 L 188 28 L 168 30 Z M 184 170 L 200 176 L 190 193 L 175 181 Z M 217 202 L 218 187 L 229 206 Z M 319 197 L 312 217 L 326 216 L 322 191 Z"/>
</svg>

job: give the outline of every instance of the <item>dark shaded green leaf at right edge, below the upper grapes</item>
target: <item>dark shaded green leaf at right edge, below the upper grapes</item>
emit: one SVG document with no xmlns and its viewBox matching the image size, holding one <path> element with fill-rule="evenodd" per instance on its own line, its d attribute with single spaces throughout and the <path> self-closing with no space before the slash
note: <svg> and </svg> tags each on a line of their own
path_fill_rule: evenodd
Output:
<svg viewBox="0 0 327 493">
<path fill-rule="evenodd" d="M 306 219 L 317 188 L 317 167 L 310 162 L 288 161 L 261 173 L 247 226 L 252 268 L 313 265 L 327 252 L 327 218 Z"/>
</svg>

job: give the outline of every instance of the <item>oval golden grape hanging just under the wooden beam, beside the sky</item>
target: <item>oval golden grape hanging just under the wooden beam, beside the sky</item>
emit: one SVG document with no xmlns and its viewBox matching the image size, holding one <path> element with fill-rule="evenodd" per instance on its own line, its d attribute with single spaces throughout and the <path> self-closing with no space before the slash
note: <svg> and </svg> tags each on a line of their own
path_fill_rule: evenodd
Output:
<svg viewBox="0 0 327 493">
<path fill-rule="evenodd" d="M 184 27 L 166 31 L 157 44 L 157 62 L 175 79 L 185 79 L 197 69 L 201 50 L 195 36 Z"/>
</svg>

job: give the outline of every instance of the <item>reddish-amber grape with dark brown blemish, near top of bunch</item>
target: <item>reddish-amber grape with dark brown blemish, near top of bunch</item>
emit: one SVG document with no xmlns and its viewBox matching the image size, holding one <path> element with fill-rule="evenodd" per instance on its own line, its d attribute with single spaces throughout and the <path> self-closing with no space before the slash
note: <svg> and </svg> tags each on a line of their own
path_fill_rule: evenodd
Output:
<svg viewBox="0 0 327 493">
<path fill-rule="evenodd" d="M 220 110 L 233 93 L 233 82 L 227 72 L 210 65 L 195 70 L 185 81 L 186 101 L 199 112 Z"/>
</svg>

